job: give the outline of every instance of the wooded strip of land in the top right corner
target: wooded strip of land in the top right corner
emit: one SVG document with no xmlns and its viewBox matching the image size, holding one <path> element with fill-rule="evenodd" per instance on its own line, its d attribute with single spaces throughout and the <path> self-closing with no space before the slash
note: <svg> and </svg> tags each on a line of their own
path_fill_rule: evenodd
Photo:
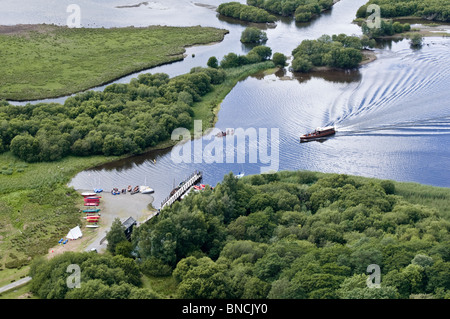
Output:
<svg viewBox="0 0 450 319">
<path fill-rule="evenodd" d="M 411 16 L 434 21 L 450 21 L 450 2 L 445 0 L 370 0 L 358 9 L 356 16 L 367 18 L 371 14 L 367 12 L 370 4 L 380 6 L 383 18 Z"/>
</svg>

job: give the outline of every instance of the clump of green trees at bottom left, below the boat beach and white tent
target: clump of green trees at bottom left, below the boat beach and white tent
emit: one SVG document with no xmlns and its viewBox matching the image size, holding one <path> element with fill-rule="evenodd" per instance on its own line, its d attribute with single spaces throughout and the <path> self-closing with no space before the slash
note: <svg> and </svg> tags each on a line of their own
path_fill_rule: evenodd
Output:
<svg viewBox="0 0 450 319">
<path fill-rule="evenodd" d="M 68 285 L 79 267 L 79 286 Z M 141 272 L 133 259 L 96 253 L 66 252 L 51 260 L 36 259 L 30 275 L 31 291 L 43 299 L 156 299 L 153 290 L 142 288 Z"/>
</svg>

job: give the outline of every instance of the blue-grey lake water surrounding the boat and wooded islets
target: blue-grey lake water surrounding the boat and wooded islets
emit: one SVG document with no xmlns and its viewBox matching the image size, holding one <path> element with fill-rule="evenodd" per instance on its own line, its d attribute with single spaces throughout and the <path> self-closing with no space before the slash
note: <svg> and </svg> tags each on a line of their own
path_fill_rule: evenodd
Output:
<svg viewBox="0 0 450 319">
<path fill-rule="evenodd" d="M 3 24 L 64 24 L 65 8 L 72 1 L 53 1 L 54 6 L 50 2 L 23 1 L 29 9 L 11 18 L 3 16 L 4 12 L 13 12 L 15 7 L 22 7 L 22 2 L 19 5 L 6 1 L 0 18 L 5 18 Z M 139 2 L 79 1 L 82 25 L 200 24 L 230 30 L 222 43 L 189 48 L 184 61 L 147 71 L 171 76 L 186 73 L 194 66 L 205 66 L 210 56 L 220 59 L 229 52 L 242 54 L 250 49 L 239 42 L 245 24 L 219 19 L 212 8 L 199 6 L 195 1 L 149 1 L 139 7 L 116 8 Z M 217 6 L 226 1 L 198 2 Z M 266 29 L 267 45 L 273 52 L 290 55 L 303 39 L 322 34 L 360 34 L 360 28 L 351 22 L 357 8 L 365 2 L 341 0 L 331 12 L 309 24 L 283 20 L 275 28 Z M 40 7 L 39 3 L 46 5 Z M 259 138 L 260 129 L 267 129 L 268 154 L 278 150 L 277 160 L 274 157 L 269 164 L 277 162 L 278 170 L 346 173 L 450 187 L 450 39 L 427 38 L 420 50 L 412 50 L 407 40 L 392 42 L 376 53 L 375 62 L 357 71 L 296 75 L 284 70 L 249 77 L 239 82 L 223 101 L 216 127 L 255 130 Z M 127 83 L 135 76 L 118 82 Z M 64 98 L 58 101 L 63 102 Z M 324 142 L 299 143 L 301 134 L 326 125 L 336 126 L 334 137 Z M 279 138 L 271 144 L 274 130 Z M 214 135 L 204 137 L 202 149 L 210 147 L 212 141 Z M 225 145 L 226 139 L 221 141 Z M 185 148 L 194 150 L 196 142 L 189 142 Z M 177 146 L 174 151 L 180 149 Z M 108 190 L 147 183 L 156 190 L 154 206 L 158 207 L 173 186 L 194 170 L 203 172 L 205 184 L 215 185 L 230 171 L 259 174 L 261 168 L 270 166 L 263 163 L 260 154 L 251 163 L 250 149 L 245 151 L 245 163 L 236 163 L 236 148 L 232 150 L 236 155 L 234 163 L 227 161 L 225 155 L 226 163 L 207 163 L 207 157 L 199 163 L 176 163 L 171 150 L 151 152 L 81 172 L 70 185 Z"/>
</svg>

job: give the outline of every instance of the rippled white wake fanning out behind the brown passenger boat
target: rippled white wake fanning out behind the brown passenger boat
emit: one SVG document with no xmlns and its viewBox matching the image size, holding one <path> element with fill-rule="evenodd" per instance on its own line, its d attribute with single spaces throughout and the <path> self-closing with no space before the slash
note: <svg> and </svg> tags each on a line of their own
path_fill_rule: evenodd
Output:
<svg viewBox="0 0 450 319">
<path fill-rule="evenodd" d="M 444 102 L 450 98 L 448 46 L 443 42 L 420 51 L 407 48 L 382 56 L 374 63 L 388 67 L 364 69 L 361 82 L 331 105 L 327 125 L 365 133 L 412 128 L 422 133 L 445 133 L 439 121 L 447 123 L 450 114 L 450 105 Z"/>
</svg>

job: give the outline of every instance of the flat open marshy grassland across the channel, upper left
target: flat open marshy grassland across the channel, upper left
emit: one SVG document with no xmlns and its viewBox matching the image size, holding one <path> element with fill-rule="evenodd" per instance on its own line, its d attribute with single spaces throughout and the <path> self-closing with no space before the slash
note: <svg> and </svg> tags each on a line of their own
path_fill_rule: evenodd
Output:
<svg viewBox="0 0 450 319">
<path fill-rule="evenodd" d="M 209 27 L 70 29 L 55 25 L 3 30 L 0 99 L 36 100 L 80 92 L 181 60 L 185 47 L 222 41 L 227 32 Z"/>
</svg>

